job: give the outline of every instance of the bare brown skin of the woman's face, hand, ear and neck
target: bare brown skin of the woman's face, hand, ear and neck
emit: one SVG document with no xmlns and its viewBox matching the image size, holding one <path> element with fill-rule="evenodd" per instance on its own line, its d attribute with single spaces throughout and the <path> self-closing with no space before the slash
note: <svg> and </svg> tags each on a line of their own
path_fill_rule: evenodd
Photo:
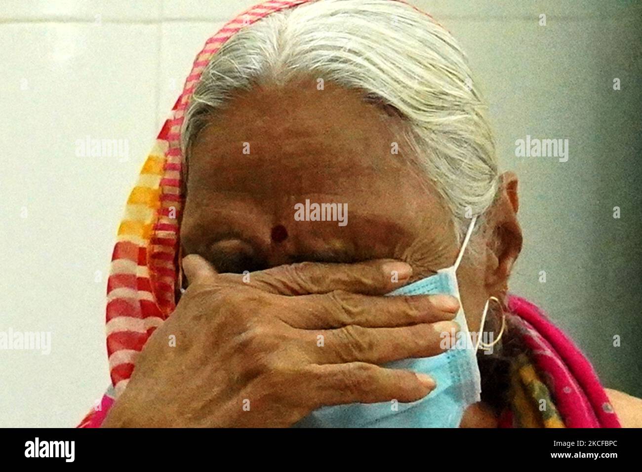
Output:
<svg viewBox="0 0 642 472">
<path fill-rule="evenodd" d="M 451 297 L 380 296 L 453 265 L 459 249 L 448 209 L 406 159 L 403 125 L 358 91 L 317 90 L 314 78 L 257 85 L 211 119 L 189 161 L 189 287 L 104 426 L 290 426 L 322 405 L 434 389 L 377 366 L 438 354 L 440 333 L 456 329 Z M 348 224 L 295 221 L 306 199 L 347 203 Z M 517 208 L 517 179 L 505 173 L 472 241 L 477 256 L 458 270 L 471 330 L 490 296 L 505 297 L 521 249 Z M 285 231 L 274 238 L 277 225 Z M 473 405 L 462 426 L 496 418 Z"/>
</svg>

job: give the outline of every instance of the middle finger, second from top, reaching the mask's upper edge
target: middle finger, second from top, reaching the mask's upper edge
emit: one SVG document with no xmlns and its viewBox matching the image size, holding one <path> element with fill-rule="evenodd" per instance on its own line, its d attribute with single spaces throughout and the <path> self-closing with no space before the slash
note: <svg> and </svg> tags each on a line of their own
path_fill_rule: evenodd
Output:
<svg viewBox="0 0 642 472">
<path fill-rule="evenodd" d="M 452 320 L 459 302 L 451 295 L 398 295 L 372 297 L 334 292 L 300 297 L 279 297 L 277 317 L 293 328 L 332 329 L 356 324 L 365 328 L 394 328 Z"/>
</svg>

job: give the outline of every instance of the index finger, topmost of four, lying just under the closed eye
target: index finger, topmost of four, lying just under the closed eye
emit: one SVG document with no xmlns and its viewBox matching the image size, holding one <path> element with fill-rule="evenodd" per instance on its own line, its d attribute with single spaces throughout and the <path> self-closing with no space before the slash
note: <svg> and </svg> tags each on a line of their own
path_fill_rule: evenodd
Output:
<svg viewBox="0 0 642 472">
<path fill-rule="evenodd" d="M 403 286 L 412 267 L 393 259 L 355 264 L 302 262 L 250 274 L 250 285 L 281 295 L 308 295 L 334 290 L 383 295 Z"/>
</svg>

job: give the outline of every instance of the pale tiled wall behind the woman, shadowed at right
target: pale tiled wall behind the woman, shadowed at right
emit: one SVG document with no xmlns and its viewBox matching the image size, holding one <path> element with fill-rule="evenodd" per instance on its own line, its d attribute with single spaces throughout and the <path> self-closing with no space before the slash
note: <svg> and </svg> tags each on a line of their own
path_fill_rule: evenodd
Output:
<svg viewBox="0 0 642 472">
<path fill-rule="evenodd" d="M 48 356 L 0 351 L 0 426 L 72 426 L 107 386 L 105 283 L 126 196 L 196 52 L 254 3 L 0 3 L 0 330 L 53 336 Z M 611 385 L 641 395 L 632 335 L 611 347 L 613 333 L 642 328 L 639 4 L 411 3 L 464 46 L 503 166 L 521 177 L 526 240 L 512 289 L 550 311 Z M 568 137 L 569 162 L 516 160 L 526 134 Z M 124 139 L 128 154 L 76 157 L 88 135 Z"/>
</svg>

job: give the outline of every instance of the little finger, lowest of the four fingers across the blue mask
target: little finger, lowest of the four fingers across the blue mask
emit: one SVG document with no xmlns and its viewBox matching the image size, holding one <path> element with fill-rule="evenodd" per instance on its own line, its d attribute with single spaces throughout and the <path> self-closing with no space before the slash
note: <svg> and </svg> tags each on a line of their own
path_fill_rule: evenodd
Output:
<svg viewBox="0 0 642 472">
<path fill-rule="evenodd" d="M 437 387 L 426 374 L 386 369 L 363 362 L 310 365 L 315 385 L 315 408 L 347 403 L 378 403 L 396 399 L 408 403 L 424 398 Z"/>
</svg>

